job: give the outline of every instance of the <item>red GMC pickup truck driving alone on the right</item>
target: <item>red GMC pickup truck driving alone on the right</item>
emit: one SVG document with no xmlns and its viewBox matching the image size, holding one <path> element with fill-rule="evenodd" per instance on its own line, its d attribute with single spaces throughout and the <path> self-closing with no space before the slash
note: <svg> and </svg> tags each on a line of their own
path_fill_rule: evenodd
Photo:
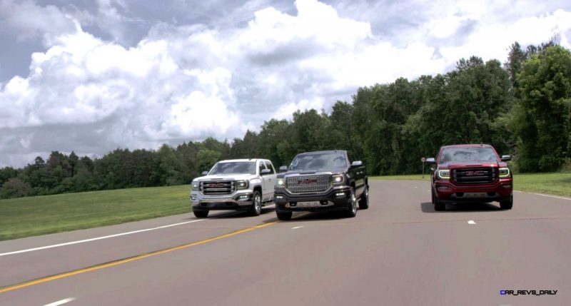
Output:
<svg viewBox="0 0 571 306">
<path fill-rule="evenodd" d="M 443 146 L 436 158 L 427 158 L 432 168 L 430 189 L 435 210 L 446 203 L 500 202 L 513 206 L 513 176 L 507 165 L 510 155 L 497 155 L 490 145 Z"/>
</svg>

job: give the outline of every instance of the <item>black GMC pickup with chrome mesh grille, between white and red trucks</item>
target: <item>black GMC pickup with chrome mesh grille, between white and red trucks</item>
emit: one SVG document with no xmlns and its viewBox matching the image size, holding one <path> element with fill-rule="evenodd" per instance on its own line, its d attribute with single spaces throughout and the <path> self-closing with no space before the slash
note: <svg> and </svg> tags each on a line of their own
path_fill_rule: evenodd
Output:
<svg viewBox="0 0 571 306">
<path fill-rule="evenodd" d="M 346 151 L 301 153 L 289 168 L 280 167 L 273 202 L 279 220 L 293 211 L 339 210 L 348 218 L 369 207 L 367 170 L 360 161 L 351 163 Z"/>
</svg>

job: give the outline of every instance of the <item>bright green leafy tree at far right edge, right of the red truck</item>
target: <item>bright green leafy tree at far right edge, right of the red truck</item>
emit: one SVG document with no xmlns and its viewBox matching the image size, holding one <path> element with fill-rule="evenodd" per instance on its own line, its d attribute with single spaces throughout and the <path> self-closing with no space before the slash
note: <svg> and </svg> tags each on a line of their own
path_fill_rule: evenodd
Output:
<svg viewBox="0 0 571 306">
<path fill-rule="evenodd" d="M 523 64 L 515 118 L 522 171 L 557 170 L 570 158 L 571 53 L 548 47 Z"/>
</svg>

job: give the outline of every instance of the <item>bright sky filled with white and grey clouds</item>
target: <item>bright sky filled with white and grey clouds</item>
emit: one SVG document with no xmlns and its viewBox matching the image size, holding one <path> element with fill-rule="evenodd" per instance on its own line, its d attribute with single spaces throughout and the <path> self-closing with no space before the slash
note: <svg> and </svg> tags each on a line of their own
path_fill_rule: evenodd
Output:
<svg viewBox="0 0 571 306">
<path fill-rule="evenodd" d="M 232 141 L 555 34 L 571 1 L 0 0 L 0 168 Z"/>
</svg>

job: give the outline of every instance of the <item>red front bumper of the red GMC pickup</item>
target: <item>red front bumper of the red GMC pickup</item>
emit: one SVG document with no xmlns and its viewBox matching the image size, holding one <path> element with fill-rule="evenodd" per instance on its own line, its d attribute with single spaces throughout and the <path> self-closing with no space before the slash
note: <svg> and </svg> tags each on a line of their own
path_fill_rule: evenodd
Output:
<svg viewBox="0 0 571 306">
<path fill-rule="evenodd" d="M 442 202 L 509 200 L 513 193 L 513 179 L 500 178 L 488 184 L 458 184 L 451 180 L 435 180 L 436 196 Z"/>
</svg>

